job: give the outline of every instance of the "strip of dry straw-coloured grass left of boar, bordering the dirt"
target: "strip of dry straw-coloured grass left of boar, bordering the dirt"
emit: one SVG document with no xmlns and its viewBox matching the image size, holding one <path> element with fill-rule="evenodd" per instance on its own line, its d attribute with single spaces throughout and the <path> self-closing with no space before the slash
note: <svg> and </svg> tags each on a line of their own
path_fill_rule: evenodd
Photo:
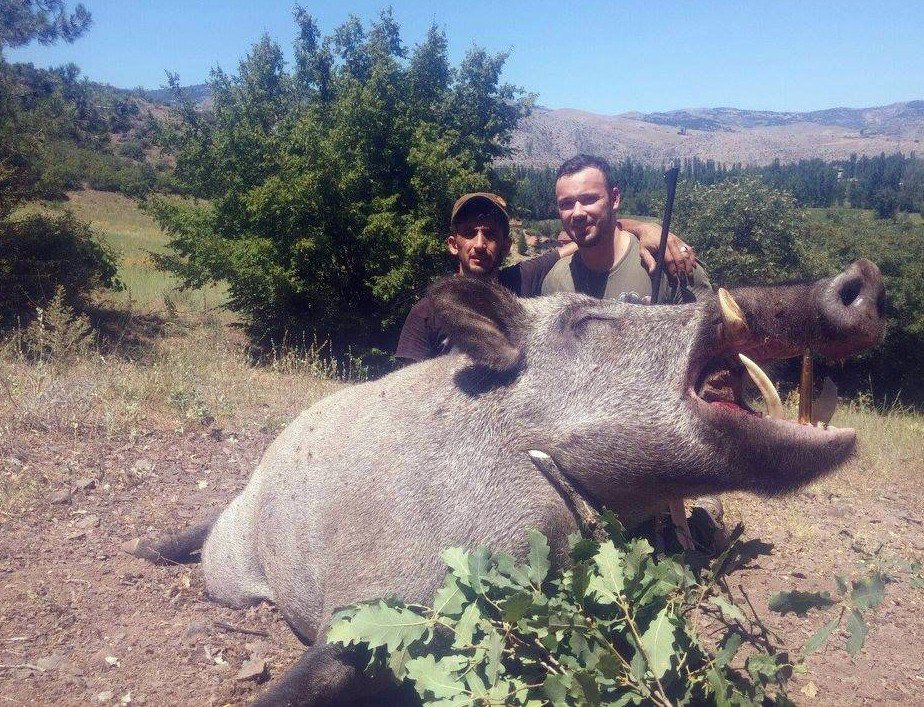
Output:
<svg viewBox="0 0 924 707">
<path fill-rule="evenodd" d="M 165 326 L 131 355 L 104 355 L 90 343 L 35 361 L 14 336 L 0 350 L 0 460 L 10 461 L 4 458 L 18 435 L 36 432 L 75 447 L 93 439 L 131 442 L 155 431 L 275 432 L 344 385 L 331 372 L 316 351 L 254 365 L 244 337 L 217 318 Z M 38 482 L 19 473 L 15 461 L 0 467 L 2 512 Z"/>
</svg>

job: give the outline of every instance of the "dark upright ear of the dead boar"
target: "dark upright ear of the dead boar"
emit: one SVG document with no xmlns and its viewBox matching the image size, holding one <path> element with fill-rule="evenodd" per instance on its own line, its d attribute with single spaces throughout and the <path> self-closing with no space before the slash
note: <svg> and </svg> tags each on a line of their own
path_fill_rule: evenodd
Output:
<svg viewBox="0 0 924 707">
<path fill-rule="evenodd" d="M 520 365 L 526 310 L 510 290 L 457 275 L 434 284 L 429 294 L 450 343 L 467 353 L 475 365 L 498 373 Z"/>
</svg>

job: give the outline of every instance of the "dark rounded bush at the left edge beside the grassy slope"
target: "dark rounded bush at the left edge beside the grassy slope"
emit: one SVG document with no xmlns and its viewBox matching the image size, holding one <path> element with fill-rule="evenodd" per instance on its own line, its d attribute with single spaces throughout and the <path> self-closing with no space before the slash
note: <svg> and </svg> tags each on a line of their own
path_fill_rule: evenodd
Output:
<svg viewBox="0 0 924 707">
<path fill-rule="evenodd" d="M 121 287 L 115 257 L 73 214 L 0 221 L 0 325 L 31 320 L 59 288 L 80 310 L 101 287 Z"/>
</svg>

